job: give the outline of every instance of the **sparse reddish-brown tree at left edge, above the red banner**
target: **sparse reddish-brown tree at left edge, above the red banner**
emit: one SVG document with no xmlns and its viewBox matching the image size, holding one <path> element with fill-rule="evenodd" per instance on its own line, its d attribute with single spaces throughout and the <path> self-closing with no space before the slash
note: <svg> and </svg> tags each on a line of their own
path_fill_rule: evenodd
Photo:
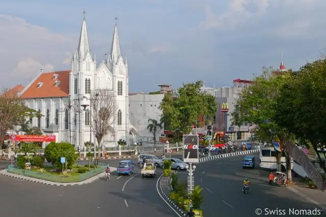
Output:
<svg viewBox="0 0 326 217">
<path fill-rule="evenodd" d="M 8 137 L 7 132 L 18 126 L 32 111 L 16 93 L 4 89 L 0 94 L 0 143 Z"/>
</svg>

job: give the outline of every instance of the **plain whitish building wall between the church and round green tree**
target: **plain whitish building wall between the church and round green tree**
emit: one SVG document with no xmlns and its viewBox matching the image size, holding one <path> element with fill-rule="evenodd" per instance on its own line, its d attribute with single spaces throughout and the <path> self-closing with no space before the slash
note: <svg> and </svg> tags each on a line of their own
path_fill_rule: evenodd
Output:
<svg viewBox="0 0 326 217">
<path fill-rule="evenodd" d="M 129 118 L 132 125 L 138 131 L 138 137 L 153 137 L 147 130 L 148 119 L 156 119 L 159 121 L 161 110 L 159 104 L 164 98 L 164 94 L 148 95 L 137 94 L 129 96 Z M 156 139 L 160 134 L 164 133 L 164 129 L 158 131 Z M 144 140 L 144 139 L 143 139 Z"/>
</svg>

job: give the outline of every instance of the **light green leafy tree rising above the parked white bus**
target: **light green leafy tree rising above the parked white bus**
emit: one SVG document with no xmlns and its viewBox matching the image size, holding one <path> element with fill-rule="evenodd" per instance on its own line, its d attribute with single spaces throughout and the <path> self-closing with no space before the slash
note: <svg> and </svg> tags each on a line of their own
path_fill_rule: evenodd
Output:
<svg viewBox="0 0 326 217">
<path fill-rule="evenodd" d="M 273 68 L 263 68 L 262 74 L 257 76 L 248 89 L 242 90 L 237 104 L 239 111 L 232 113 L 233 122 L 241 126 L 243 121 L 255 123 L 260 131 L 274 140 L 287 139 L 289 137 L 286 129 L 281 128 L 274 121 L 275 108 L 278 106 L 277 99 L 280 88 L 287 75 L 280 76 Z M 278 171 L 281 171 L 281 152 L 277 154 Z M 288 159 L 290 157 L 288 156 Z M 291 180 L 291 167 L 288 168 L 288 178 Z"/>
</svg>

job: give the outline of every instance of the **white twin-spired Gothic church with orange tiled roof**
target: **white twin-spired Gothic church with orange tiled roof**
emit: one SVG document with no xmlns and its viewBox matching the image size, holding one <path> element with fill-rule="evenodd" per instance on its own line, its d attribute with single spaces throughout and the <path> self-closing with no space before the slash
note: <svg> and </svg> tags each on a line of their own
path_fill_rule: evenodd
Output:
<svg viewBox="0 0 326 217">
<path fill-rule="evenodd" d="M 100 146 L 112 147 L 118 145 L 119 139 L 125 140 L 127 144 L 137 141 L 138 132 L 129 121 L 128 86 L 128 64 L 121 54 L 117 24 L 111 51 L 97 65 L 95 53 L 91 53 L 89 45 L 84 12 L 78 47 L 72 54 L 71 70 L 41 70 L 19 95 L 26 105 L 43 114 L 41 118 L 30 119 L 32 126 L 41 128 L 45 135 L 56 135 L 57 142 L 67 141 L 83 148 L 87 141 L 98 145 L 90 127 L 93 123 L 90 106 L 85 106 L 91 104 L 91 91 L 111 90 L 118 109 L 114 123 Z M 86 109 L 80 108 L 80 105 Z"/>
</svg>

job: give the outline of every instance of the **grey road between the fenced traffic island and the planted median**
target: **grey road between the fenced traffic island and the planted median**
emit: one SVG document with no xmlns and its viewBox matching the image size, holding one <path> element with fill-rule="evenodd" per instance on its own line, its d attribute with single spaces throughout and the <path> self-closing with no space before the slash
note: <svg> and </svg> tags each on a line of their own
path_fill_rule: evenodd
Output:
<svg viewBox="0 0 326 217">
<path fill-rule="evenodd" d="M 103 162 L 114 167 L 120 160 Z M 7 168 L 10 163 L 2 161 L 0 167 Z M 176 216 L 156 191 L 162 169 L 158 168 L 155 178 L 142 179 L 139 172 L 140 168 L 135 164 L 134 175 L 114 173 L 110 181 L 103 177 L 77 186 L 51 186 L 0 176 L 2 216 Z"/>
</svg>

